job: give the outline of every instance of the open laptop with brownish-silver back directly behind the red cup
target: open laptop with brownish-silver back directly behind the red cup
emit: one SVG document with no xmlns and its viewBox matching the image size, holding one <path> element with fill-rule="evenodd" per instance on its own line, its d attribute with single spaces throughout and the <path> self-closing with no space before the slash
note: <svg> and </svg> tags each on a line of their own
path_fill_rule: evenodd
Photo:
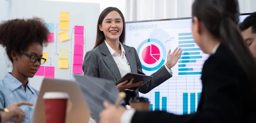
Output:
<svg viewBox="0 0 256 123">
<path fill-rule="evenodd" d="M 66 123 L 89 122 L 90 110 L 77 83 L 70 80 L 45 78 L 39 91 L 32 123 L 45 123 L 43 95 L 47 91 L 67 92 L 69 94 Z"/>
</svg>

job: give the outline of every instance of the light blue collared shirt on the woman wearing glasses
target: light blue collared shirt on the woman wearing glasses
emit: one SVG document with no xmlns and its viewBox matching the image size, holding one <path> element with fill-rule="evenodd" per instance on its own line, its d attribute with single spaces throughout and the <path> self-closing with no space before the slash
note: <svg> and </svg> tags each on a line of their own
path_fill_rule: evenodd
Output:
<svg viewBox="0 0 256 123">
<path fill-rule="evenodd" d="M 36 104 L 38 90 L 34 89 L 27 83 L 26 92 L 22 83 L 13 77 L 10 73 L 6 73 L 5 78 L 0 80 L 0 108 L 4 109 L 12 103 L 20 101 Z M 25 112 L 26 117 L 24 123 L 30 123 L 33 116 L 34 106 L 22 105 L 20 108 Z M 13 121 L 12 121 L 13 122 Z"/>
</svg>

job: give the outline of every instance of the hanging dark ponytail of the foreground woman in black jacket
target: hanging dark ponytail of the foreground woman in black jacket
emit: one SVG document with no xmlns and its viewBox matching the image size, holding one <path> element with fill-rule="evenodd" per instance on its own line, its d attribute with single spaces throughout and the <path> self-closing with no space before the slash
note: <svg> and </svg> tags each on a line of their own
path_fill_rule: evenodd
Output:
<svg viewBox="0 0 256 123">
<path fill-rule="evenodd" d="M 239 65 L 248 76 L 250 85 L 254 85 L 251 87 L 256 87 L 256 63 L 238 30 L 237 24 L 230 17 L 222 18 L 220 20 L 219 34 L 222 43 L 230 48 Z"/>
</svg>

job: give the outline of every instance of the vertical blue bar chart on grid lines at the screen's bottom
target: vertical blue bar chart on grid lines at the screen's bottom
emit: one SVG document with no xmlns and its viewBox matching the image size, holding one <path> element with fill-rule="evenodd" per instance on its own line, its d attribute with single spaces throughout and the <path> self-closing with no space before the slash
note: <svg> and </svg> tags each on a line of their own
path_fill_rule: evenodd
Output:
<svg viewBox="0 0 256 123">
<path fill-rule="evenodd" d="M 177 115 L 196 112 L 201 97 L 200 76 L 172 77 L 141 97 L 150 99 L 150 111 L 167 111 Z"/>
</svg>

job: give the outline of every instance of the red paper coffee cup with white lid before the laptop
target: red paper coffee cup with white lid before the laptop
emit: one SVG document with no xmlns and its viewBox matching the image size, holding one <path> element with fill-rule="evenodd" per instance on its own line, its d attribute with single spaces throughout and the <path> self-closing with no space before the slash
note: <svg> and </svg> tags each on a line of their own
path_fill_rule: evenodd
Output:
<svg viewBox="0 0 256 123">
<path fill-rule="evenodd" d="M 46 123 L 65 123 L 68 93 L 45 92 L 43 99 Z"/>
</svg>

